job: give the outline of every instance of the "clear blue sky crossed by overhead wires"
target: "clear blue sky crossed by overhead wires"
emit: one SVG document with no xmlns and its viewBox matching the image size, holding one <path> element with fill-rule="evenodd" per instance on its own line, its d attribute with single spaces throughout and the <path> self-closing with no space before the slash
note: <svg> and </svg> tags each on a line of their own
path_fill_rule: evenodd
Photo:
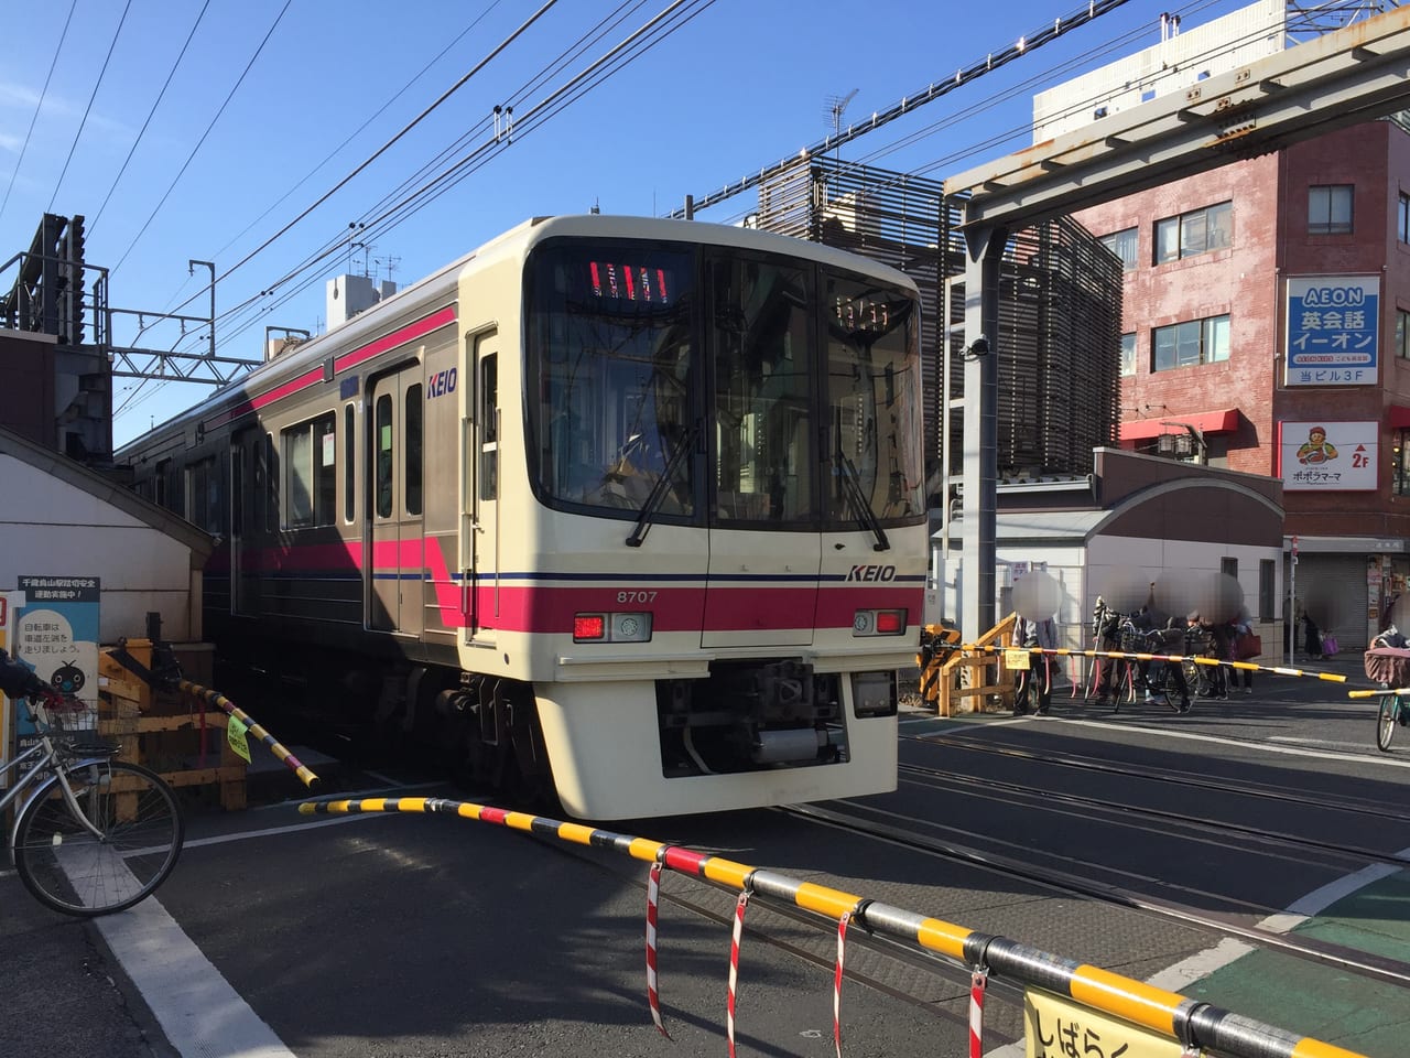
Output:
<svg viewBox="0 0 1410 1058">
<path fill-rule="evenodd" d="M 0 261 L 30 248 L 45 212 L 83 214 L 87 262 L 113 269 L 111 306 L 192 315 L 209 306 L 209 271 L 189 275 L 188 261 L 214 261 L 217 351 L 258 357 L 266 326 L 323 329 L 330 275 L 365 267 L 385 279 L 391 269 L 405 285 L 529 216 L 594 206 L 663 214 L 688 193 L 701 197 L 819 142 L 830 131 L 829 103 L 853 89 L 845 124 L 1086 10 L 1080 0 L 687 0 L 677 23 L 694 17 L 639 58 L 557 113 L 540 106 L 670 4 L 553 4 L 264 248 L 543 4 L 8 4 L 0 37 Z M 1241 6 L 1129 0 L 853 141 L 842 157 L 943 179 L 1025 147 L 1035 92 L 1155 44 L 1162 11 L 1179 13 L 1190 28 Z M 577 51 L 585 37 L 595 42 Z M 520 128 L 492 152 L 492 110 L 508 102 Z M 358 236 L 369 248 L 348 245 L 350 223 L 382 214 L 471 154 L 477 168 L 454 186 Z M 699 219 L 732 223 L 753 207 L 744 193 Z M 0 288 L 13 281 L 13 268 L 0 274 Z M 261 296 L 271 286 L 275 293 Z M 117 344 L 188 351 L 204 348 L 204 334 L 182 339 L 166 326 L 138 336 L 130 317 L 114 327 Z M 135 387 L 116 379 L 117 444 L 210 392 Z"/>
</svg>

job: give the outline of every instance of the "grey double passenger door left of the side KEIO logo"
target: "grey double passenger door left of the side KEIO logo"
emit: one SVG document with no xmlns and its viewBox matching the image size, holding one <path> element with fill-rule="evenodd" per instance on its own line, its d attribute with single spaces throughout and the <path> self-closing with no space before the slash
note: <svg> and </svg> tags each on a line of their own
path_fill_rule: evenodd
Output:
<svg viewBox="0 0 1410 1058">
<path fill-rule="evenodd" d="M 419 635 L 426 595 L 424 530 L 422 525 L 420 364 L 382 375 L 371 384 L 372 466 L 368 497 L 371 581 L 368 625 L 385 632 Z"/>
</svg>

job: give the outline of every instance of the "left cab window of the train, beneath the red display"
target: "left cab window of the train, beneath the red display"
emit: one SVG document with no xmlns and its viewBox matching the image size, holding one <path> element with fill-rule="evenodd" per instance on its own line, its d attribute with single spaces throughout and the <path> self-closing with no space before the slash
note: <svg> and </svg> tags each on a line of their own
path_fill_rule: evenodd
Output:
<svg viewBox="0 0 1410 1058">
<path fill-rule="evenodd" d="M 534 491 L 634 516 L 695 511 L 695 267 L 654 244 L 544 243 L 529 265 Z M 482 475 L 484 480 L 484 475 Z"/>
</svg>

